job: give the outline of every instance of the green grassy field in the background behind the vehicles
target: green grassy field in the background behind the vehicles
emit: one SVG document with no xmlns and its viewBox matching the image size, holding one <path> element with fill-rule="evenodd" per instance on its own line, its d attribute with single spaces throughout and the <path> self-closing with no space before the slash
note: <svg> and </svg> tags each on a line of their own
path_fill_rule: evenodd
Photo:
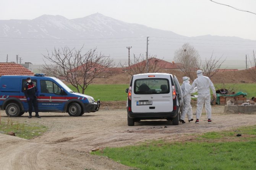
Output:
<svg viewBox="0 0 256 170">
<path fill-rule="evenodd" d="M 74 87 L 69 85 L 71 90 L 77 91 Z M 127 93 L 125 89 L 129 85 L 124 84 L 91 84 L 86 88 L 85 94 L 94 97 L 95 100 L 100 99 L 101 101 L 125 101 L 127 99 Z M 219 88 L 233 88 L 235 92 L 242 91 L 247 93 L 247 98 L 251 99 L 256 97 L 256 83 L 240 83 L 232 84 L 227 83 L 215 84 L 216 90 Z"/>
</svg>

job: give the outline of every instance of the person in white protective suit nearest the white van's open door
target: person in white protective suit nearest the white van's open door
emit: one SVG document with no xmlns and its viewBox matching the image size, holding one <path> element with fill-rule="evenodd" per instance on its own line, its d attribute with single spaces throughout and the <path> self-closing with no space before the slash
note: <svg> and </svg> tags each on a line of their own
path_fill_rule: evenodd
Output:
<svg viewBox="0 0 256 170">
<path fill-rule="evenodd" d="M 197 87 L 194 88 L 193 91 L 191 91 L 190 94 L 185 95 L 185 93 L 190 89 L 191 85 L 190 85 L 190 78 L 189 77 L 182 77 L 183 79 L 183 83 L 181 85 L 181 91 L 182 91 L 182 94 L 183 94 L 183 111 L 182 111 L 182 115 L 181 115 L 181 118 L 180 118 L 180 122 L 181 123 L 186 123 L 184 120 L 185 120 L 185 117 L 187 115 L 188 117 L 188 122 L 191 122 L 193 121 L 193 114 L 192 114 L 192 106 L 190 104 L 190 101 L 191 101 L 191 94 L 192 93 L 195 93 L 197 91 Z"/>
</svg>

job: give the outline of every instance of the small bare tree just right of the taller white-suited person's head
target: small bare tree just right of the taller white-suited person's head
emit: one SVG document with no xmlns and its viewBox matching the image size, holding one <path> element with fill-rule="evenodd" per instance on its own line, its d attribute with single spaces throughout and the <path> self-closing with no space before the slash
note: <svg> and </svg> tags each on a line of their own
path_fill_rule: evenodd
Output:
<svg viewBox="0 0 256 170">
<path fill-rule="evenodd" d="M 213 52 L 212 52 L 213 55 Z M 217 59 L 216 57 L 213 58 L 211 56 L 210 59 L 206 59 L 205 63 L 202 65 L 202 71 L 204 72 L 204 75 L 211 78 L 214 74 L 219 72 L 220 66 L 224 63 L 224 61 L 227 59 L 225 58 L 223 61 L 220 61 L 222 57 Z"/>
</svg>

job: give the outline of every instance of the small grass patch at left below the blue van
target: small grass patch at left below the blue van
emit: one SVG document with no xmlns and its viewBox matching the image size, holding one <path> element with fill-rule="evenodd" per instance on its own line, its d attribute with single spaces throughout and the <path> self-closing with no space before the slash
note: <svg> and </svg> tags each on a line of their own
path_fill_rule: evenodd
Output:
<svg viewBox="0 0 256 170">
<path fill-rule="evenodd" d="M 0 124 L 0 131 L 2 131 L 2 133 L 8 134 L 8 132 L 13 132 L 19 138 L 24 139 L 32 139 L 36 136 L 40 136 L 42 133 L 46 132 L 47 129 L 47 127 L 39 123 L 20 123 L 10 118 L 5 121 L 2 120 Z"/>
</svg>

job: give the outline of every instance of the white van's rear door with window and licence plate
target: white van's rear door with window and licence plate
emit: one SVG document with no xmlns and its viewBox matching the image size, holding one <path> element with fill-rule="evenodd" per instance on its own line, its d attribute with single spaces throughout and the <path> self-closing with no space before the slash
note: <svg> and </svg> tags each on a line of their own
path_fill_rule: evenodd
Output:
<svg viewBox="0 0 256 170">
<path fill-rule="evenodd" d="M 131 98 L 132 112 L 173 111 L 170 75 L 134 75 Z"/>
</svg>

